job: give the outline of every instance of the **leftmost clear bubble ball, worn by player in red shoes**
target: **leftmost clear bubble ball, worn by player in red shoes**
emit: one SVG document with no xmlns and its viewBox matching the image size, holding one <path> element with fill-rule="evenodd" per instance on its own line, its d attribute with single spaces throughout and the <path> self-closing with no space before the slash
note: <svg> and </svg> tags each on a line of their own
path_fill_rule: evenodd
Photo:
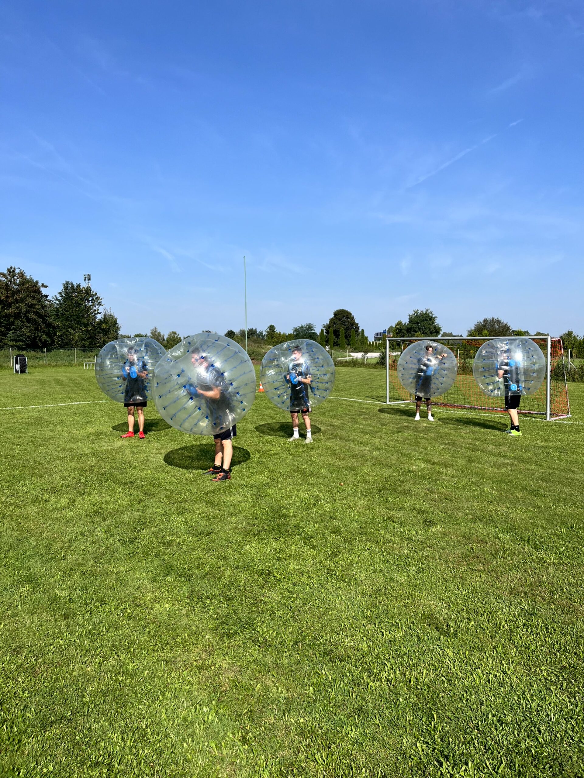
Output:
<svg viewBox="0 0 584 778">
<path fill-rule="evenodd" d="M 116 402 L 146 402 L 154 366 L 165 353 L 164 346 L 153 338 L 111 341 L 97 355 L 97 384 L 108 398 Z"/>
</svg>

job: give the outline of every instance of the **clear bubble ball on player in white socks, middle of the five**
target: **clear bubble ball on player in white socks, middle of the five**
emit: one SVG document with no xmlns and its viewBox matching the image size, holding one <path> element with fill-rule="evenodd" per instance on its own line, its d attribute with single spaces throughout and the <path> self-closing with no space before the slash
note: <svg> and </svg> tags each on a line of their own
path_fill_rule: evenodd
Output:
<svg viewBox="0 0 584 778">
<path fill-rule="evenodd" d="M 267 397 L 284 411 L 315 408 L 335 383 L 335 364 L 315 341 L 298 338 L 269 349 L 262 359 L 260 380 Z"/>
</svg>

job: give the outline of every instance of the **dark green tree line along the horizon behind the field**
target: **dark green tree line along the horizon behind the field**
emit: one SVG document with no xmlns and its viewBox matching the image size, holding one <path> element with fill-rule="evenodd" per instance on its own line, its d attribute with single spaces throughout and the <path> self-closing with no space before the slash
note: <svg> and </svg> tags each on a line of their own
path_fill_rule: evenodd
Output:
<svg viewBox="0 0 584 778">
<path fill-rule="evenodd" d="M 165 349 L 181 342 L 178 331 L 164 335 L 156 326 L 149 333 L 123 335 L 118 318 L 104 307 L 100 295 L 89 284 L 65 281 L 62 289 L 52 297 L 44 293 L 47 285 L 26 275 L 21 268 L 10 266 L 0 272 L 0 347 L 12 348 L 92 348 L 103 346 L 117 338 L 154 338 Z M 394 338 L 462 338 L 488 336 L 530 336 L 525 329 L 513 328 L 500 317 L 484 317 L 466 331 L 466 335 L 443 331 L 438 317 L 430 308 L 414 309 L 407 321 L 398 320 L 386 328 Z M 537 331 L 533 337 L 547 335 Z M 237 342 L 245 342 L 245 329 L 225 332 Z M 584 338 L 568 330 L 560 335 L 565 349 L 584 352 Z M 291 338 L 315 340 L 329 349 L 366 352 L 374 341 L 360 328 L 354 314 L 346 308 L 333 311 L 329 321 L 317 332 L 315 324 L 306 322 L 279 331 L 275 324 L 265 330 L 248 328 L 248 342 L 256 345 L 276 345 Z"/>
</svg>

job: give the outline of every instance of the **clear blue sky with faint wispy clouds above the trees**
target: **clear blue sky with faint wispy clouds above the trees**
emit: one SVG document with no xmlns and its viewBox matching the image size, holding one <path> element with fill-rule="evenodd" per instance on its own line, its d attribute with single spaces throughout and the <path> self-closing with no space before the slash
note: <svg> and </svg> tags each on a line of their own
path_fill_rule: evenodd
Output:
<svg viewBox="0 0 584 778">
<path fill-rule="evenodd" d="M 0 2 L 0 264 L 122 331 L 584 333 L 580 0 Z"/>
</svg>

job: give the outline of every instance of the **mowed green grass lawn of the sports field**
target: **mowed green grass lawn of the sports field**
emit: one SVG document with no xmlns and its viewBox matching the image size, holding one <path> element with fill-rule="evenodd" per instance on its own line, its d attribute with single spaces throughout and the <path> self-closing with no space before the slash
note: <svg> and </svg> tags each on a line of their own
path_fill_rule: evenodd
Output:
<svg viewBox="0 0 584 778">
<path fill-rule="evenodd" d="M 572 422 L 259 394 L 233 478 L 149 406 L 2 410 L 2 776 L 582 776 Z M 0 406 L 101 401 L 0 373 Z"/>
</svg>

